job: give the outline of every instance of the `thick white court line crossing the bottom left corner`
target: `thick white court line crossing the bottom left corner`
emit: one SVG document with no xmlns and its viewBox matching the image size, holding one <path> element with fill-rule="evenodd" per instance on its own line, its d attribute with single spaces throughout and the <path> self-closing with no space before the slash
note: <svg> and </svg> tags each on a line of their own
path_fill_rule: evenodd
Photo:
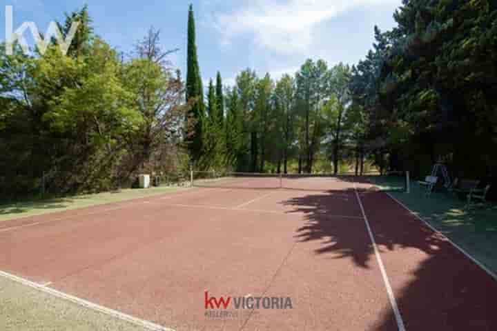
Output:
<svg viewBox="0 0 497 331">
<path fill-rule="evenodd" d="M 117 310 L 113 310 L 110 308 L 106 308 L 102 305 L 97 305 L 97 303 L 92 303 L 90 301 L 86 301 L 84 299 L 80 299 L 78 297 L 74 297 L 70 294 L 66 294 L 64 292 L 59 292 L 52 288 L 46 287 L 46 285 L 40 285 L 38 283 L 34 283 L 32 281 L 28 281 L 28 279 L 24 279 L 22 277 L 14 276 L 13 274 L 9 274 L 8 272 L 0 271 L 0 276 L 5 277 L 6 279 L 10 279 L 11 281 L 15 281 L 17 283 L 21 283 L 22 285 L 26 285 L 30 288 L 34 288 L 35 290 L 39 290 L 46 294 L 52 295 L 52 297 L 57 297 L 59 299 L 64 299 L 66 301 L 70 301 L 77 305 L 80 305 L 84 308 L 88 308 L 90 310 L 94 310 L 96 312 L 100 312 L 101 314 L 106 314 L 110 317 L 115 317 L 120 319 L 121 321 L 126 321 L 128 323 L 132 323 L 142 328 L 146 328 L 147 330 L 152 331 L 175 331 L 171 328 L 165 328 L 164 326 L 152 323 L 150 321 L 145 321 L 144 319 L 138 319 L 137 317 L 130 316 L 128 314 L 124 314 L 123 312 L 118 312 Z"/>
</svg>

